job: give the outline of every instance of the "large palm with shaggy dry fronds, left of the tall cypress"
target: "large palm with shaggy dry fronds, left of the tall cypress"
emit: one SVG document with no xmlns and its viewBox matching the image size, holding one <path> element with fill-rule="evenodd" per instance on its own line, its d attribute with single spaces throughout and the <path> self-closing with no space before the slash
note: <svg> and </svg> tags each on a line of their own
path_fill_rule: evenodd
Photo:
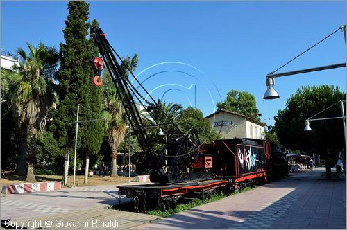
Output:
<svg viewBox="0 0 347 230">
<path fill-rule="evenodd" d="M 55 48 L 47 47 L 40 42 L 37 47 L 28 44 L 30 53 L 22 48 L 17 53 L 23 58 L 19 73 L 12 72 L 9 77 L 9 94 L 14 116 L 21 128 L 19 156 L 16 172 L 25 174 L 26 142 L 30 131 L 30 147 L 28 151 L 28 171 L 26 180 L 35 181 L 35 152 L 37 129 L 47 114 L 48 106 L 53 98 L 53 76 L 58 63 L 58 53 Z"/>
</svg>

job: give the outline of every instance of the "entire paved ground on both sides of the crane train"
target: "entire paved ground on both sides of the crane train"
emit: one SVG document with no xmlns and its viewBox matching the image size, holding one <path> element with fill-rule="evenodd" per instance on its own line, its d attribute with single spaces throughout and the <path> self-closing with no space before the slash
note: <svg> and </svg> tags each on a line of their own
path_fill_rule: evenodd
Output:
<svg viewBox="0 0 347 230">
<path fill-rule="evenodd" d="M 96 217 L 94 211 L 101 214 L 98 218 L 117 218 L 119 227 L 128 229 L 346 229 L 346 182 L 322 180 L 324 171 L 325 168 L 314 168 L 291 174 L 278 182 L 151 223 L 138 216 L 128 217 L 131 213 L 110 212 L 103 216 L 105 213 L 97 211 L 117 204 L 115 185 L 1 195 L 1 220 L 33 220 L 54 214 L 71 221 L 75 215 L 92 220 Z M 144 215 L 143 219 L 155 218 Z"/>
</svg>

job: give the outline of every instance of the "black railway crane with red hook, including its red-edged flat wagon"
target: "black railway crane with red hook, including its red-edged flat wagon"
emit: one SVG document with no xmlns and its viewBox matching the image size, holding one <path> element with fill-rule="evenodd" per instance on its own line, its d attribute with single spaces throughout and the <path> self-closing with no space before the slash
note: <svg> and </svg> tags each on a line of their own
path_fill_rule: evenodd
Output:
<svg viewBox="0 0 347 230">
<path fill-rule="evenodd" d="M 117 95 L 121 98 L 128 121 L 133 127 L 133 133 L 137 135 L 139 144 L 146 153 L 152 168 L 150 180 L 154 184 L 148 186 L 120 186 L 119 193 L 133 198 L 136 208 L 144 211 L 146 206 L 150 206 L 149 203 L 154 202 L 159 206 L 165 204 L 172 206 L 183 194 L 195 193 L 204 188 L 209 190 L 225 184 L 226 182 L 212 179 L 212 165 L 205 163 L 205 159 L 208 160 L 208 157 L 206 158 L 200 152 L 201 144 L 196 130 L 192 129 L 187 133 L 183 133 L 174 121 L 171 121 L 161 105 L 144 89 L 141 82 L 137 80 L 121 59 L 121 56 L 112 48 L 101 28 L 92 28 L 91 35 L 92 45 L 99 48 L 101 55 L 101 57 L 94 58 L 94 67 L 96 68 L 94 83 L 101 85 L 99 81 L 101 70 L 107 67 L 117 89 Z M 146 97 L 142 96 L 129 80 L 121 64 L 124 64 L 139 85 L 138 87 L 146 93 Z M 156 125 L 167 135 L 164 148 L 159 152 L 153 148 L 152 143 L 149 141 L 149 134 L 146 131 L 141 112 L 135 106 L 135 99 L 149 112 Z M 164 114 L 164 119 L 160 116 L 158 121 L 158 118 L 151 113 L 154 109 Z M 171 127 L 171 132 L 164 128 L 168 124 Z"/>
</svg>

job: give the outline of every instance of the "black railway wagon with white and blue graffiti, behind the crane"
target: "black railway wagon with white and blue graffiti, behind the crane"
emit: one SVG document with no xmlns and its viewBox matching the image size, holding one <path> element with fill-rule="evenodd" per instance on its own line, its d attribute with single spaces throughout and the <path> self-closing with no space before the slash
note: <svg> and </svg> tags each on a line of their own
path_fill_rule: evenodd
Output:
<svg viewBox="0 0 347 230">
<path fill-rule="evenodd" d="M 260 139 L 225 139 L 203 145 L 201 152 L 212 155 L 216 179 L 241 182 L 266 181 L 287 175 L 284 150 Z"/>
</svg>

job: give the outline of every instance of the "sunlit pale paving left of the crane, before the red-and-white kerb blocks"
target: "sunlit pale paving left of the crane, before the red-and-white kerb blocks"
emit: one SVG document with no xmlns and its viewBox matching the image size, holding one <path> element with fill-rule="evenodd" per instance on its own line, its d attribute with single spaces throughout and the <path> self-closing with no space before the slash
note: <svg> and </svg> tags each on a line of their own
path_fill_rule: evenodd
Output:
<svg viewBox="0 0 347 230">
<path fill-rule="evenodd" d="M 131 182 L 131 184 L 140 183 Z M 122 202 L 127 201 L 128 199 L 122 199 Z M 116 184 L 63 188 L 59 191 L 38 193 L 1 194 L 0 219 L 32 218 L 115 204 L 118 204 Z"/>
</svg>

